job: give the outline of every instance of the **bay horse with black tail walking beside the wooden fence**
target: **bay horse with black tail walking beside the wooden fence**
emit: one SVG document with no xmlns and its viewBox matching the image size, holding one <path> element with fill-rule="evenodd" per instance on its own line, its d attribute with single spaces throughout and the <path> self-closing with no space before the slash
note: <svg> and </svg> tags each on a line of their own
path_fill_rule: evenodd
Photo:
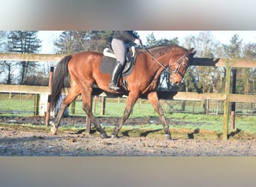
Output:
<svg viewBox="0 0 256 187">
<path fill-rule="evenodd" d="M 93 86 L 97 85 L 98 88 L 108 93 L 123 93 L 128 96 L 121 123 L 115 126 L 112 138 L 118 138 L 118 132 L 131 114 L 135 102 L 143 94 L 147 96 L 148 101 L 159 114 L 165 137 L 171 139 L 171 132 L 166 123 L 162 107 L 159 105 L 156 88 L 159 85 L 160 75 L 163 70 L 169 70 L 171 73 L 170 82 L 178 85 L 182 81 L 196 51 L 194 51 L 194 48 L 188 50 L 177 45 L 155 46 L 147 49 L 142 47 L 142 49 L 137 48 L 136 51 L 135 66 L 132 73 L 123 78 L 127 82 L 126 85 L 121 79 L 119 80 L 118 84 L 121 87 L 119 91 L 108 89 L 111 75 L 100 71 L 100 61 L 103 58 L 102 52 L 77 52 L 62 58 L 52 78 L 52 108 L 55 108 L 61 94 L 61 88 L 64 88 L 65 79 L 69 76 L 70 91 L 61 102 L 58 115 L 52 123 L 50 134 L 55 135 L 57 133 L 65 109 L 81 94 L 82 109 L 88 115 L 97 131 L 100 132 L 100 137 L 109 138 L 91 110 Z"/>
</svg>

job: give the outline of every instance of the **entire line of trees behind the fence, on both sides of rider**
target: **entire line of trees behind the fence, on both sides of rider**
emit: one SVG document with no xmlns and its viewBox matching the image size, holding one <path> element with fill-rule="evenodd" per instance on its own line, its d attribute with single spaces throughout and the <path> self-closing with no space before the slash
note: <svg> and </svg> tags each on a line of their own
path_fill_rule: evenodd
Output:
<svg viewBox="0 0 256 187">
<path fill-rule="evenodd" d="M 0 31 L 0 52 L 38 53 L 42 41 L 38 31 Z M 135 31 L 135 34 L 138 33 Z M 56 54 L 72 54 L 86 50 L 102 52 L 109 46 L 112 31 L 63 31 L 55 38 Z M 256 43 L 243 43 L 234 34 L 230 43 L 217 42 L 210 31 L 201 31 L 196 36 L 187 36 L 185 43 L 177 37 L 156 40 L 153 32 L 143 41 L 145 47 L 177 44 L 187 49 L 198 50 L 201 58 L 246 58 L 256 59 Z M 159 89 L 193 91 L 198 93 L 221 93 L 225 87 L 225 67 L 189 67 L 179 87 L 171 85 L 168 72 L 163 72 Z M 48 85 L 49 65 L 28 61 L 0 61 L 0 83 L 19 85 Z M 237 93 L 255 93 L 255 68 L 237 68 Z"/>
</svg>

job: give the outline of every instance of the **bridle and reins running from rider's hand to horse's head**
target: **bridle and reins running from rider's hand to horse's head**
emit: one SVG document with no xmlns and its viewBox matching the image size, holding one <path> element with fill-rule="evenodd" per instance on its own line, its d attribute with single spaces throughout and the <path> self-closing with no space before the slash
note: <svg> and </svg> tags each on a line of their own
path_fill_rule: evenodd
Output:
<svg viewBox="0 0 256 187">
<path fill-rule="evenodd" d="M 183 58 L 186 58 L 186 60 L 189 61 L 189 58 L 187 58 L 188 52 L 186 52 L 184 55 L 182 55 L 177 61 L 174 62 L 174 64 L 171 65 L 171 67 L 172 67 L 175 64 L 177 64 L 177 67 L 175 68 L 175 70 L 170 71 L 171 67 L 169 67 L 168 65 L 165 67 L 165 65 L 163 65 L 160 61 L 158 61 L 156 58 L 154 58 L 153 55 L 151 55 L 151 53 L 146 48 L 144 48 L 144 46 L 142 46 L 142 49 L 144 49 L 147 52 L 147 54 L 150 55 L 150 57 L 153 58 L 154 61 L 156 61 L 157 64 L 159 64 L 161 67 L 163 67 L 165 71 L 167 71 L 168 73 L 178 73 L 183 79 L 184 74 L 180 73 L 180 71 L 179 71 L 180 64 L 183 61 Z M 170 61 L 171 61 L 171 59 L 168 61 L 168 64 Z M 189 67 L 189 64 L 187 64 L 187 67 Z"/>
</svg>

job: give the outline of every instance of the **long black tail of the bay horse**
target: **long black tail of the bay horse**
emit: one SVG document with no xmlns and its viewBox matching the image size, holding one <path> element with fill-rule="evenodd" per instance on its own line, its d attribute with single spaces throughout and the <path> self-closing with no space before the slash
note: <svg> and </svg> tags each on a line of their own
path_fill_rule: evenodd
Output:
<svg viewBox="0 0 256 187">
<path fill-rule="evenodd" d="M 72 58 L 72 55 L 67 55 L 61 59 L 58 63 L 55 73 L 52 77 L 52 96 L 51 96 L 51 106 L 52 110 L 56 107 L 58 99 L 61 95 L 61 88 L 64 88 L 65 79 L 68 77 L 67 64 Z"/>
</svg>

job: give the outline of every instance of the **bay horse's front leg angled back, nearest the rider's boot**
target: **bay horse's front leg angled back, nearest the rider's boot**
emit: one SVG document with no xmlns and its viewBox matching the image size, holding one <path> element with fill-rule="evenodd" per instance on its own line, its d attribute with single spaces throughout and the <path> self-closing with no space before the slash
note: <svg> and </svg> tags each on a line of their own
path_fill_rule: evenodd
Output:
<svg viewBox="0 0 256 187">
<path fill-rule="evenodd" d="M 132 113 L 132 108 L 135 105 L 137 99 L 138 94 L 129 93 L 129 96 L 127 98 L 127 105 L 124 109 L 123 118 L 121 119 L 121 123 L 115 126 L 115 129 L 112 132 L 112 138 L 118 138 L 118 132 L 121 130 L 122 126 L 124 125 L 124 122 L 128 119 L 129 115 Z"/>
</svg>

